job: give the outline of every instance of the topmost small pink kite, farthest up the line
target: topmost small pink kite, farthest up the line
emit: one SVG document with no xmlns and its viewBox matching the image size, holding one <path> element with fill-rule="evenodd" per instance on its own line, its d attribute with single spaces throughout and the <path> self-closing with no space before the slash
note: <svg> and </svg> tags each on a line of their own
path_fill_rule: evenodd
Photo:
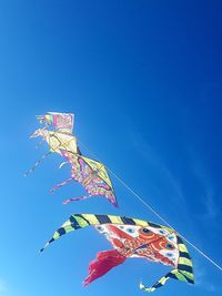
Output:
<svg viewBox="0 0 222 296">
<path fill-rule="evenodd" d="M 47 112 L 44 115 L 37 115 L 37 120 L 48 126 L 53 126 L 53 130 L 64 134 L 71 134 L 74 123 L 74 114 Z"/>
</svg>

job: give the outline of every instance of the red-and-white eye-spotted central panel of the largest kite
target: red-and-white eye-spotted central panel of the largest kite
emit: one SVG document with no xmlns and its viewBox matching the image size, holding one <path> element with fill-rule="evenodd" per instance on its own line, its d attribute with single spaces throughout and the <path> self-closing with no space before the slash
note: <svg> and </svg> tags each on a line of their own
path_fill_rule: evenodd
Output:
<svg viewBox="0 0 222 296">
<path fill-rule="evenodd" d="M 97 226 L 97 229 L 125 257 L 176 266 L 179 251 L 175 233 L 149 226 L 112 224 Z"/>
</svg>

